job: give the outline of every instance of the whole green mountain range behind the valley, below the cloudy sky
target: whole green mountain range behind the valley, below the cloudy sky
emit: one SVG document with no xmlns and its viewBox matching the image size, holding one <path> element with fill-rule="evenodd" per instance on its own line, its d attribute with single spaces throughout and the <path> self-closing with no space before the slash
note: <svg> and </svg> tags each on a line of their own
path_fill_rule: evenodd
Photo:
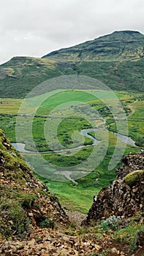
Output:
<svg viewBox="0 0 144 256">
<path fill-rule="evenodd" d="M 113 90 L 144 92 L 144 35 L 115 31 L 39 58 L 15 57 L 0 66 L 1 97 L 25 97 L 59 75 L 87 75 Z"/>
</svg>

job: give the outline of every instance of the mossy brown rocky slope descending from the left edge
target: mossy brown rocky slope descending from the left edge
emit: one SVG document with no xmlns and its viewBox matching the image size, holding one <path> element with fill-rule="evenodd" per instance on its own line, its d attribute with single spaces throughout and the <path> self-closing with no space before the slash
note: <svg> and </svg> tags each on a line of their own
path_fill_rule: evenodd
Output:
<svg viewBox="0 0 144 256">
<path fill-rule="evenodd" d="M 48 187 L 34 177 L 0 131 L 0 234 L 24 237 L 33 227 L 67 224 L 68 217 Z"/>
</svg>

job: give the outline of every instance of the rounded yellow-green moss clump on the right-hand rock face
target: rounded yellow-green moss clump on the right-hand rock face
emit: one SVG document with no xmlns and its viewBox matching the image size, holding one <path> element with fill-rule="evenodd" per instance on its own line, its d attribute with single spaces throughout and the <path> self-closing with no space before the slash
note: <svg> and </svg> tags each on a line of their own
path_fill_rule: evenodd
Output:
<svg viewBox="0 0 144 256">
<path fill-rule="evenodd" d="M 134 170 L 132 173 L 124 177 L 124 181 L 129 186 L 133 186 L 136 182 L 141 181 L 144 177 L 144 170 Z"/>
</svg>

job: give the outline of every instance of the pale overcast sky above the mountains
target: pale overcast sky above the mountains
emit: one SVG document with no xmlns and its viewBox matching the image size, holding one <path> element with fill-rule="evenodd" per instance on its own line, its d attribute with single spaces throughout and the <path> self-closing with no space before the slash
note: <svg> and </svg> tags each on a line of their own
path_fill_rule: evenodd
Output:
<svg viewBox="0 0 144 256">
<path fill-rule="evenodd" d="M 0 64 L 113 31 L 144 34 L 143 13 L 143 0 L 0 0 Z"/>
</svg>

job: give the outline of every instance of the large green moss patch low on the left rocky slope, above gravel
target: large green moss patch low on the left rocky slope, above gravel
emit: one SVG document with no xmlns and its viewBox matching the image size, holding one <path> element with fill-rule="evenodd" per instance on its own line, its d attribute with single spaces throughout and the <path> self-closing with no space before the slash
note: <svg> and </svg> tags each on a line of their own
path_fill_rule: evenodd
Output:
<svg viewBox="0 0 144 256">
<path fill-rule="evenodd" d="M 1 187 L 0 233 L 3 237 L 10 238 L 14 232 L 24 237 L 31 232 L 26 210 L 34 205 L 36 198 L 34 193 L 21 192 L 18 187 Z"/>
</svg>

